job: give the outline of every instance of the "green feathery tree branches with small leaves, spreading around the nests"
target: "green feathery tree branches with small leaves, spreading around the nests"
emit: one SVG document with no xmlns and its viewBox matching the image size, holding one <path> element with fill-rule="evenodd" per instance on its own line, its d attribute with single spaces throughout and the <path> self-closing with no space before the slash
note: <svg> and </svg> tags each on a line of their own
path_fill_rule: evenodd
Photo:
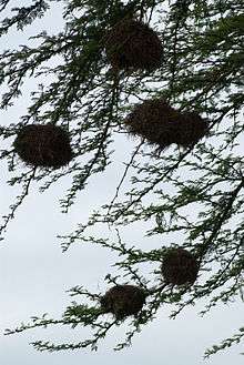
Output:
<svg viewBox="0 0 244 365">
<path fill-rule="evenodd" d="M 139 293 L 142 296 L 136 313 L 128 312 L 133 315 L 126 337 L 115 348 L 131 344 L 134 334 L 156 317 L 164 303 L 172 305 L 172 317 L 175 317 L 203 297 L 206 305 L 202 313 L 220 302 L 243 297 L 242 1 L 38 0 L 24 7 L 11 9 L 11 0 L 0 1 L 2 39 L 7 39 L 12 29 L 24 32 L 55 7 L 62 11 L 63 28 L 55 34 L 43 30 L 27 39 L 26 44 L 6 49 L 0 54 L 0 105 L 3 111 L 8 113 L 17 99 L 24 98 L 28 80 L 33 79 L 37 83 L 26 114 L 9 125 L 1 122 L 0 126 L 4 142 L 0 158 L 8 162 L 12 172 L 8 183 L 21 186 L 21 193 L 2 217 L 1 239 L 29 194 L 32 182 L 44 192 L 68 176 L 70 187 L 60 200 L 62 212 L 68 213 L 78 194 L 84 189 L 89 192 L 91 179 L 95 179 L 99 189 L 99 174 L 106 173 L 113 163 L 114 149 L 122 145 L 126 149 L 128 160 L 111 201 L 90 212 L 88 221 L 79 222 L 74 232 L 60 237 L 64 252 L 75 242 L 114 252 L 118 261 L 115 271 L 105 277 L 108 286 L 121 288 L 130 284 L 143 291 L 143 294 Z M 135 36 L 130 36 L 126 28 L 130 21 L 141 24 L 141 30 L 133 33 Z M 120 33 L 118 26 L 121 23 Z M 145 33 L 139 49 L 133 37 L 136 38 L 140 31 Z M 126 47 L 132 53 L 133 49 L 143 50 L 146 32 L 152 37 L 142 54 L 146 62 L 135 58 L 133 63 L 126 59 Z M 128 36 L 118 49 L 112 45 L 108 49 L 108 44 L 123 38 L 124 33 Z M 155 37 L 162 49 L 157 42 L 159 48 L 149 61 L 146 57 L 154 51 Z M 114 53 L 118 50 L 119 55 Z M 119 61 L 114 57 L 119 57 Z M 154 67 L 150 68 L 149 62 L 155 58 Z M 162 109 L 155 107 L 159 100 L 163 102 L 164 114 L 170 113 L 169 125 L 172 125 L 171 119 L 177 120 L 173 132 L 167 131 L 167 145 L 155 139 L 157 133 L 160 138 L 166 133 L 161 133 L 153 122 L 161 118 Z M 149 128 L 148 120 L 152 120 L 154 130 L 151 134 L 132 133 L 126 123 L 135 116 L 139 121 L 145 119 L 145 129 Z M 199 138 L 192 143 L 177 142 L 177 135 L 185 135 L 189 141 L 192 133 L 189 125 L 193 123 L 191 128 L 194 129 L 201 122 L 207 128 Z M 62 166 L 59 162 L 54 169 L 48 163 L 40 166 L 30 161 L 20 164 L 24 153 L 22 150 L 20 153 L 19 145 L 28 143 L 23 140 L 20 143 L 21 131 L 29 124 L 50 123 L 69 133 L 72 149 L 72 156 L 67 158 L 69 164 Z M 32 139 L 34 136 L 30 136 Z M 41 143 L 45 141 L 43 136 Z M 50 141 L 53 145 L 54 136 Z M 69 146 L 67 149 L 69 151 Z M 52 153 L 47 150 L 45 155 L 54 159 Z M 108 184 L 113 182 L 108 180 Z M 156 249 L 141 249 L 124 242 L 121 231 L 124 227 L 134 230 L 142 222 L 145 222 L 148 240 L 159 239 Z M 193 260 L 197 278 L 194 270 L 194 280 L 184 283 L 175 278 L 175 273 L 173 281 L 169 271 L 165 274 L 161 267 L 164 263 L 165 268 L 165 260 L 172 250 L 180 257 L 180 264 L 174 263 L 176 272 L 184 266 L 184 260 Z M 189 272 L 192 264 L 187 265 Z M 150 267 L 148 274 L 144 267 Z M 72 302 L 59 320 L 47 315 L 35 317 L 29 324 L 8 329 L 7 334 L 55 324 L 83 325 L 92 328 L 91 338 L 67 344 L 40 341 L 33 345 L 40 351 L 95 349 L 111 327 L 126 316 L 126 311 L 116 315 L 119 310 L 113 307 L 111 292 L 110 296 L 103 296 L 103 293 L 90 293 L 89 288 L 78 285 L 70 294 L 78 297 L 78 302 Z M 244 328 L 241 327 L 232 337 L 207 349 L 205 355 L 240 343 L 243 336 Z"/>
</svg>

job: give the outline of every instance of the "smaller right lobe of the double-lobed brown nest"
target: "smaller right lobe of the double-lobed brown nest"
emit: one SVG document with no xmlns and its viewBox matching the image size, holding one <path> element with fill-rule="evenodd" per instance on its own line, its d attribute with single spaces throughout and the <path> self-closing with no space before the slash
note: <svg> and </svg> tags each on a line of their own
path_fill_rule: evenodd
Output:
<svg viewBox="0 0 244 365">
<path fill-rule="evenodd" d="M 209 132 L 209 123 L 195 112 L 181 113 L 177 124 L 175 139 L 183 148 L 195 144 Z"/>
</svg>

